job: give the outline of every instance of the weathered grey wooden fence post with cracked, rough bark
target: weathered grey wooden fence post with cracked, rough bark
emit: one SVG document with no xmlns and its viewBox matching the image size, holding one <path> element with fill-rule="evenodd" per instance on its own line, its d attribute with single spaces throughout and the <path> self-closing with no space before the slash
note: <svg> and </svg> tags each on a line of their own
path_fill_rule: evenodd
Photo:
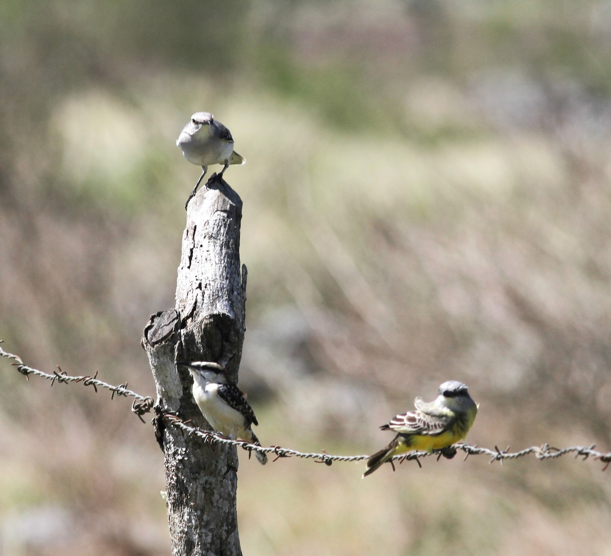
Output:
<svg viewBox="0 0 611 556">
<path fill-rule="evenodd" d="M 241 216 L 238 194 L 214 176 L 189 202 L 176 307 L 153 315 L 142 337 L 155 378 L 156 408 L 203 428 L 210 426 L 192 398 L 192 379 L 174 362 L 218 362 L 230 379 L 238 379 L 246 302 Z M 156 419 L 156 434 L 166 466 L 172 554 L 240 555 L 236 448 L 185 436 L 163 419 Z"/>
</svg>

